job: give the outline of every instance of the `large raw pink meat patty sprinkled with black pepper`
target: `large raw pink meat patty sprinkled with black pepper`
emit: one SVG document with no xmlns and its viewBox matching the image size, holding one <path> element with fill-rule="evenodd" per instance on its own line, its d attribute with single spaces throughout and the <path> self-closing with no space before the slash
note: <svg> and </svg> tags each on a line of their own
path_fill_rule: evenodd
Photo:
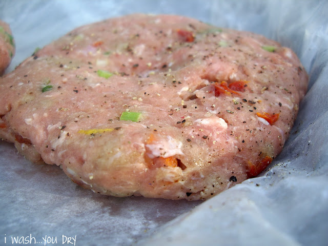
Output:
<svg viewBox="0 0 328 246">
<path fill-rule="evenodd" d="M 282 150 L 308 76 L 273 40 L 172 15 L 77 28 L 0 80 L 0 136 L 113 196 L 209 198 Z"/>
</svg>

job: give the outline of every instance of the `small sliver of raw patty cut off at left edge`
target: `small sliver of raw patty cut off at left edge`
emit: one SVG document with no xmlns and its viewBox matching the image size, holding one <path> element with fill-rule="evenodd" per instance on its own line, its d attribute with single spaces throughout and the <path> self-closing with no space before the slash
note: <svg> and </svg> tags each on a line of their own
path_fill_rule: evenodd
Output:
<svg viewBox="0 0 328 246">
<path fill-rule="evenodd" d="M 15 43 L 10 27 L 0 20 L 0 75 L 5 72 L 14 54 Z"/>
</svg>

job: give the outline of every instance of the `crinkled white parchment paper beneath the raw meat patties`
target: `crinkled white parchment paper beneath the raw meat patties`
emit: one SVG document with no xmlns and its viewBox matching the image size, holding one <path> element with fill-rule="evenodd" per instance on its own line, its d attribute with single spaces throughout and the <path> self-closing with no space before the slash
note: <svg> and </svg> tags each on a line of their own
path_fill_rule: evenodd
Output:
<svg viewBox="0 0 328 246">
<path fill-rule="evenodd" d="M 133 12 L 187 15 L 291 47 L 310 85 L 283 152 L 259 177 L 188 202 L 94 194 L 2 141 L 0 245 L 328 245 L 328 3 L 2 0 L 17 49 L 7 72 L 75 27 Z"/>
</svg>

